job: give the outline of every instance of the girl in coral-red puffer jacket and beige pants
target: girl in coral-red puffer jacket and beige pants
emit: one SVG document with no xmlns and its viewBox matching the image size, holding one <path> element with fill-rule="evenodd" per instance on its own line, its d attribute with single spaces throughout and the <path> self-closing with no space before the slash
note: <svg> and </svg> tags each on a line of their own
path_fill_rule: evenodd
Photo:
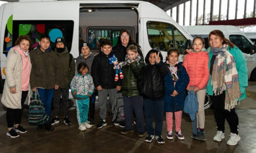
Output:
<svg viewBox="0 0 256 153">
<path fill-rule="evenodd" d="M 199 106 L 196 114 L 197 118 L 195 118 L 195 121 L 192 121 L 193 135 L 191 137 L 202 141 L 206 140 L 204 134 L 204 101 L 209 79 L 208 62 L 209 56 L 204 48 L 204 39 L 195 37 L 191 49 L 187 50 L 183 65 L 186 67 L 190 78 L 187 90 L 194 90 Z"/>
</svg>

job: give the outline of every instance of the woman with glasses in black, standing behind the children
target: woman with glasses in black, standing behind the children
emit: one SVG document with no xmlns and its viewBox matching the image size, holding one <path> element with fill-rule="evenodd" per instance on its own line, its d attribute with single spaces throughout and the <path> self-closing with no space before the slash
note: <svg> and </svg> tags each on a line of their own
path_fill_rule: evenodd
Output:
<svg viewBox="0 0 256 153">
<path fill-rule="evenodd" d="M 119 34 L 117 45 L 113 48 L 113 53 L 118 57 L 118 61 L 125 61 L 126 50 L 130 45 L 136 45 L 138 54 L 143 57 L 140 46 L 130 38 L 130 32 L 123 30 Z"/>
</svg>

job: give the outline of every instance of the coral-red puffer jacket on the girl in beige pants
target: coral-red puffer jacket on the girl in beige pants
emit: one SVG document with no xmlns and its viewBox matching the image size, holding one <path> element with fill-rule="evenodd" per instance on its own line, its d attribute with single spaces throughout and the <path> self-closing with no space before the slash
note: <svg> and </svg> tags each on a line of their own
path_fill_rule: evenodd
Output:
<svg viewBox="0 0 256 153">
<path fill-rule="evenodd" d="M 200 90 L 207 85 L 209 80 L 209 56 L 207 52 L 190 52 L 187 50 L 186 58 L 183 62 L 189 74 L 189 86 L 194 86 Z"/>
</svg>

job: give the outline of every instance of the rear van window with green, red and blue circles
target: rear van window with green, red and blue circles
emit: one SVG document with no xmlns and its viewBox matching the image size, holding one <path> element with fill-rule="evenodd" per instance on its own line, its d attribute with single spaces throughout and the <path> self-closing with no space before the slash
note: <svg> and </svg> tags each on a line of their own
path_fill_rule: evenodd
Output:
<svg viewBox="0 0 256 153">
<path fill-rule="evenodd" d="M 36 48 L 41 35 L 49 35 L 51 38 L 51 47 L 55 48 L 55 40 L 58 37 L 65 39 L 67 49 L 70 51 L 73 40 L 74 21 L 45 21 L 45 20 L 19 20 L 13 21 L 13 40 L 16 40 L 20 35 L 30 37 L 33 48 Z M 14 41 L 12 42 L 14 45 Z"/>
</svg>

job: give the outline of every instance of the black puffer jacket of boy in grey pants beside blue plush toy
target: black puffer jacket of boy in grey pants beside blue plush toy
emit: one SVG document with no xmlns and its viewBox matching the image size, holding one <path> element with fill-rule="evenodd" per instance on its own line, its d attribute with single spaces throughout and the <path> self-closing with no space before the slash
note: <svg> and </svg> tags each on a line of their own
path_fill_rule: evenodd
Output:
<svg viewBox="0 0 256 153">
<path fill-rule="evenodd" d="M 121 82 L 118 80 L 115 82 L 115 70 L 113 65 L 109 64 L 109 57 L 113 56 L 113 52 L 108 55 L 99 51 L 94 57 L 93 64 L 91 65 L 91 75 L 93 76 L 93 83 L 95 87 L 101 86 L 104 89 L 113 89 L 116 86 L 121 86 Z"/>
</svg>

